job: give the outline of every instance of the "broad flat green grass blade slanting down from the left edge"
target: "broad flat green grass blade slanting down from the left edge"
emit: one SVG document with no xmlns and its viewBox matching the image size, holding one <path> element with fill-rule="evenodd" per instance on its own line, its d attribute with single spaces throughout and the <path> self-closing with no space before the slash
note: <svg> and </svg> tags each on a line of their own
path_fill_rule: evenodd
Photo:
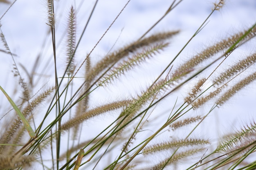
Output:
<svg viewBox="0 0 256 170">
<path fill-rule="evenodd" d="M 27 119 L 24 117 L 24 115 L 22 115 L 22 113 L 20 112 L 20 109 L 16 106 L 16 104 L 13 102 L 13 100 L 11 99 L 11 97 L 4 91 L 4 89 L 0 86 L 1 91 L 4 93 L 4 95 L 6 96 L 6 98 L 8 99 L 8 101 L 10 102 L 11 106 L 13 107 L 13 109 L 16 111 L 16 113 L 18 114 L 18 116 L 20 117 L 21 121 L 23 122 L 23 124 L 25 125 L 25 128 L 27 129 L 27 132 L 29 132 L 29 136 L 32 138 L 36 137 L 35 132 L 33 131 L 33 129 L 31 128 L 31 126 L 29 125 L 29 122 L 27 121 Z"/>
</svg>

